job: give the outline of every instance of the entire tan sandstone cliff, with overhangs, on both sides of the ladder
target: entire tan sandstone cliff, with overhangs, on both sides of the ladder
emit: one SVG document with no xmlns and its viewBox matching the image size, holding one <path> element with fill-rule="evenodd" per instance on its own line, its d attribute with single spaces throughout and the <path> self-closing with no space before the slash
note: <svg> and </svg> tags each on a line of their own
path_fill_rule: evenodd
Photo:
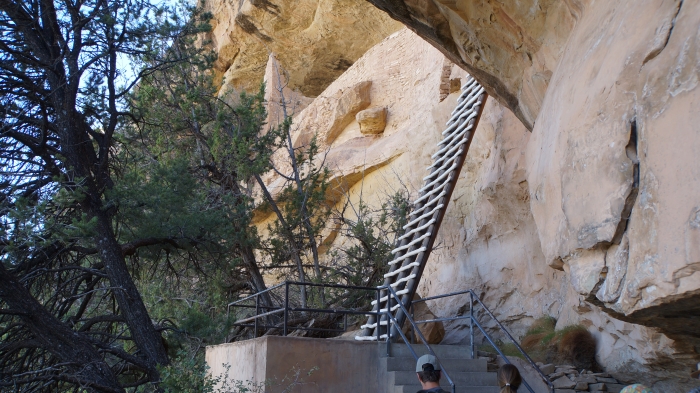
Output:
<svg viewBox="0 0 700 393">
<path fill-rule="evenodd" d="M 214 3 L 219 71 L 246 88 L 279 61 L 268 96 L 299 90 L 295 144 L 316 135 L 339 198 L 371 204 L 420 188 L 469 70 L 492 97 L 419 293 L 474 288 L 516 336 L 551 315 L 586 326 L 618 380 L 697 385 L 700 3 L 370 2 L 417 35 L 390 35 L 397 24 L 359 0 Z M 463 323 L 445 331 L 468 339 Z"/>
</svg>

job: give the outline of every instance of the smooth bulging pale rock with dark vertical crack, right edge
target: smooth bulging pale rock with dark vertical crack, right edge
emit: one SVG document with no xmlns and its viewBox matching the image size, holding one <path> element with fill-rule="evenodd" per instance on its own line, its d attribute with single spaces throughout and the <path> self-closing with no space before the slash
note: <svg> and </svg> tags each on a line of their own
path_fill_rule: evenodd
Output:
<svg viewBox="0 0 700 393">
<path fill-rule="evenodd" d="M 612 315 L 695 338 L 699 22 L 696 2 L 591 4 L 527 151 L 547 263 Z"/>
</svg>

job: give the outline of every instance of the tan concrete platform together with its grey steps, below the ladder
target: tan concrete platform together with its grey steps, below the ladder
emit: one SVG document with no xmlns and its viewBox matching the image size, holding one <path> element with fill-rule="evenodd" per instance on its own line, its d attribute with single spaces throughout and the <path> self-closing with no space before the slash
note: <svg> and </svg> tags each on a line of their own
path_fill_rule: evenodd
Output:
<svg viewBox="0 0 700 393">
<path fill-rule="evenodd" d="M 487 372 L 485 359 L 469 359 L 465 346 L 431 347 L 453 378 L 457 392 L 498 392 L 496 374 Z M 413 348 L 419 355 L 427 352 L 422 345 L 413 345 Z M 384 342 L 266 336 L 209 346 L 206 361 L 211 375 L 225 376 L 229 386 L 267 384 L 266 393 L 280 393 L 292 384 L 295 386 L 287 390 L 289 393 L 409 393 L 420 390 L 415 359 L 408 347 L 392 344 L 390 352 L 387 357 Z M 252 390 L 252 393 L 258 392 Z"/>
</svg>

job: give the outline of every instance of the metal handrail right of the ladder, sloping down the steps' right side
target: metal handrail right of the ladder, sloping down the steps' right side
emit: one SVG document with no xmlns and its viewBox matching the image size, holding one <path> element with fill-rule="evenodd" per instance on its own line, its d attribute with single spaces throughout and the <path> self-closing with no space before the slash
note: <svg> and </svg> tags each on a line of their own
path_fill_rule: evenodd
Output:
<svg viewBox="0 0 700 393">
<path fill-rule="evenodd" d="M 431 296 L 431 297 L 426 297 L 422 299 L 416 299 L 411 303 L 411 311 L 413 310 L 413 307 L 416 303 L 420 302 L 426 302 L 428 300 L 436 300 L 436 299 L 442 299 L 446 297 L 452 297 L 452 296 L 458 296 L 458 295 L 465 295 L 469 294 L 469 315 L 465 316 L 456 316 L 456 317 L 448 317 L 448 318 L 434 318 L 434 319 L 427 319 L 423 321 L 413 321 L 413 314 L 409 314 L 404 310 L 404 314 L 407 315 L 407 319 L 412 321 L 412 327 L 416 329 L 416 333 L 420 332 L 419 329 L 415 328 L 416 325 L 420 324 L 425 324 L 425 323 L 431 323 L 431 322 L 447 322 L 447 321 L 456 321 L 460 319 L 469 319 L 469 337 L 470 337 L 470 349 L 471 349 L 471 355 L 472 359 L 475 359 L 475 350 L 474 350 L 474 326 L 476 325 L 477 328 L 481 331 L 481 333 L 484 335 L 484 338 L 491 344 L 491 346 L 498 352 L 498 354 L 503 358 L 503 361 L 506 362 L 507 364 L 511 364 L 510 361 L 508 360 L 508 357 L 501 351 L 500 348 L 498 348 L 498 345 L 496 345 L 496 342 L 493 340 L 491 335 L 489 335 L 484 327 L 482 326 L 481 323 L 479 323 L 477 316 L 474 314 L 474 301 L 482 307 L 484 312 L 493 319 L 494 322 L 496 322 L 496 325 L 500 328 L 500 330 L 505 333 L 505 336 L 515 345 L 515 347 L 520 351 L 520 353 L 523 355 L 525 360 L 532 366 L 532 368 L 535 369 L 535 371 L 539 374 L 540 378 L 547 384 L 549 387 L 549 390 L 551 393 L 554 393 L 554 385 L 552 385 L 552 382 L 549 380 L 549 378 L 540 370 L 540 368 L 537 366 L 537 364 L 530 358 L 530 356 L 523 350 L 523 348 L 518 344 L 518 342 L 513 338 L 513 336 L 510 334 L 508 329 L 503 326 L 503 324 L 493 315 L 491 310 L 489 310 L 488 307 L 479 299 L 479 296 L 471 289 L 463 290 L 463 291 L 457 291 L 457 292 L 451 292 L 447 293 L 444 295 L 438 295 L 438 296 Z M 399 329 L 400 331 L 400 329 Z M 530 393 L 535 393 L 530 385 L 527 383 L 525 378 L 522 378 L 523 385 L 527 388 L 527 390 Z"/>
</svg>

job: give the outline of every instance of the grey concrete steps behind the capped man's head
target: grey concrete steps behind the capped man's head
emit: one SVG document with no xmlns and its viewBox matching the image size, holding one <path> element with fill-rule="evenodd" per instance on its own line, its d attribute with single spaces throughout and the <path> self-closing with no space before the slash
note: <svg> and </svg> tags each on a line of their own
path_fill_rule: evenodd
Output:
<svg viewBox="0 0 700 393">
<path fill-rule="evenodd" d="M 386 344 L 384 344 L 386 345 Z M 424 345 L 414 344 L 418 356 L 428 353 Z M 486 359 L 471 359 L 470 349 L 463 345 L 431 345 L 455 383 L 457 393 L 498 393 L 496 373 L 488 372 Z M 416 361 L 406 344 L 392 344 L 391 356 L 380 349 L 379 372 L 386 381 L 387 393 L 416 393 L 421 389 L 416 378 Z M 447 378 L 440 380 L 442 388 L 450 391 Z"/>
</svg>

